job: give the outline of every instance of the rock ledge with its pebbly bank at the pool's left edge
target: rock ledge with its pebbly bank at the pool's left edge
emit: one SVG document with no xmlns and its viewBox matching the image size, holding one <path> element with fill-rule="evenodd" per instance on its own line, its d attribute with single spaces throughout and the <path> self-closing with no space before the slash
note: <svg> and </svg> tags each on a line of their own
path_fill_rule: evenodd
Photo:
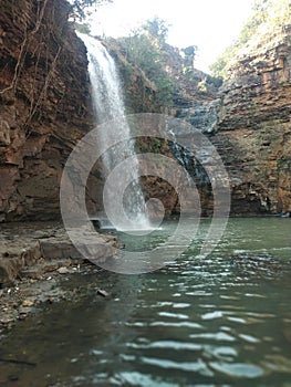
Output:
<svg viewBox="0 0 291 387">
<path fill-rule="evenodd" d="M 81 257 L 61 223 L 6 223 L 0 230 L 0 334 L 39 305 L 73 296 L 75 290 L 64 289 L 63 280 L 97 268 Z M 114 252 L 117 240 L 95 238 L 102 242 L 97 263 Z"/>
</svg>

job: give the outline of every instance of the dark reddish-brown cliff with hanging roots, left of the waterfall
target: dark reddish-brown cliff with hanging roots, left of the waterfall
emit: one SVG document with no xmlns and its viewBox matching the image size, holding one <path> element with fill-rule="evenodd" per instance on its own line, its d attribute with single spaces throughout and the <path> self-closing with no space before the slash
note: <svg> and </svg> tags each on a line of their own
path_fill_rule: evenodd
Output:
<svg viewBox="0 0 291 387">
<path fill-rule="evenodd" d="M 0 220 L 59 217 L 59 185 L 92 113 L 83 43 L 60 0 L 1 1 Z"/>
</svg>

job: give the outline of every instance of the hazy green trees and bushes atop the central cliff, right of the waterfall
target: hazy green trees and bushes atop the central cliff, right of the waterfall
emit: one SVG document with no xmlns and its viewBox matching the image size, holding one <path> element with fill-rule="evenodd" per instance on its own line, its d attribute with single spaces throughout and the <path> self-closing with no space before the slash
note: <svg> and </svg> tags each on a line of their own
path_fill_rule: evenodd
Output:
<svg viewBox="0 0 291 387">
<path fill-rule="evenodd" d="M 159 19 L 147 20 L 128 36 L 107 39 L 113 53 L 123 62 L 125 84 L 131 84 L 131 74 L 138 70 L 155 91 L 156 102 L 163 107 L 173 107 L 195 97 L 211 98 L 220 85 L 214 79 L 195 69 L 196 46 L 184 50 L 167 43 L 168 25 Z M 126 87 L 126 86 L 125 86 Z M 129 86 L 131 87 L 131 86 Z M 146 94 L 146 91 L 145 91 Z"/>
</svg>

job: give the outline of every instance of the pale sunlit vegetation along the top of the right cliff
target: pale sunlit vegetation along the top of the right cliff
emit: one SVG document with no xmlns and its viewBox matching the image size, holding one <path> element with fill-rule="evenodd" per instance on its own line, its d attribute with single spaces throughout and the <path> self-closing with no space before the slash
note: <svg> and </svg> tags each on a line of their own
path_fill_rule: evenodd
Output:
<svg viewBox="0 0 291 387">
<path fill-rule="evenodd" d="M 227 79 L 233 61 L 254 38 L 273 33 L 291 22 L 290 0 L 253 0 L 252 14 L 245 23 L 240 36 L 228 46 L 210 66 L 215 76 Z"/>
</svg>

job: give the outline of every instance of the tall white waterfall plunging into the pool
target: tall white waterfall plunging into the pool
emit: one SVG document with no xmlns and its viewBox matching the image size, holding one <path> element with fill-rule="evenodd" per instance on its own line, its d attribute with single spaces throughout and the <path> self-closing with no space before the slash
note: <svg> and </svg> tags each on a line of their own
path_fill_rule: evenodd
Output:
<svg viewBox="0 0 291 387">
<path fill-rule="evenodd" d="M 114 179 L 114 186 L 110 190 L 107 189 L 105 194 L 107 208 L 114 217 L 114 227 L 118 230 L 149 229 L 150 224 L 138 179 L 138 160 L 135 155 L 134 140 L 131 137 L 131 128 L 125 116 L 115 63 L 100 41 L 80 33 L 79 36 L 87 49 L 92 97 L 100 127 L 100 138 L 96 146 L 106 150 L 102 159 L 105 180 L 115 167 L 131 158 L 129 168 L 124 167 L 122 169 L 117 178 Z M 112 142 L 116 139 L 121 143 L 112 147 Z M 131 185 L 123 192 L 124 181 L 131 181 Z M 117 199 L 122 194 L 125 195 L 123 195 L 123 203 L 119 206 Z"/>
</svg>

